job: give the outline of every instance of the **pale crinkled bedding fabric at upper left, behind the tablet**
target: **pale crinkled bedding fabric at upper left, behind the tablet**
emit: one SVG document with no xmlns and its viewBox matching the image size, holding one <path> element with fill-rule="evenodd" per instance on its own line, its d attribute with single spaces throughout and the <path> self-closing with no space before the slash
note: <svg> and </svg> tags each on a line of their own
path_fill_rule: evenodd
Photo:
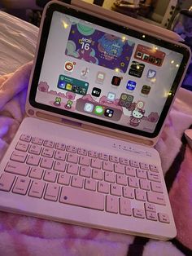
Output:
<svg viewBox="0 0 192 256">
<path fill-rule="evenodd" d="M 0 11 L 0 75 L 33 60 L 38 28 Z"/>
</svg>

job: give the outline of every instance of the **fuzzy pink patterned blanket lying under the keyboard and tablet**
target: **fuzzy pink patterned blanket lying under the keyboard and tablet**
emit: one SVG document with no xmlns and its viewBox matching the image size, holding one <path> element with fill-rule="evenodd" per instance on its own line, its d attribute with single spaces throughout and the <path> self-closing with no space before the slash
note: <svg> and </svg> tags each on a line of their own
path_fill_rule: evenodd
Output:
<svg viewBox="0 0 192 256">
<path fill-rule="evenodd" d="M 0 77 L 0 160 L 24 118 L 31 68 L 32 63 L 25 64 Z M 0 211 L 0 256 L 192 255 L 192 149 L 184 137 L 191 125 L 192 93 L 180 89 L 156 145 L 177 225 L 175 239 L 154 241 Z"/>
</svg>

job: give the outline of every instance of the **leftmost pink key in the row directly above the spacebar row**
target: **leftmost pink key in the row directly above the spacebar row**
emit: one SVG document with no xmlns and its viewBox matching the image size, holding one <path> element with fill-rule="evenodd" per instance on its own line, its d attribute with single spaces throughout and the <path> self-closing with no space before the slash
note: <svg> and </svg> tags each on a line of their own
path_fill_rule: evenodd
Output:
<svg viewBox="0 0 192 256">
<path fill-rule="evenodd" d="M 5 171 L 10 172 L 12 174 L 19 174 L 22 176 L 27 176 L 29 170 L 29 166 L 20 164 L 16 161 L 8 161 Z"/>
</svg>

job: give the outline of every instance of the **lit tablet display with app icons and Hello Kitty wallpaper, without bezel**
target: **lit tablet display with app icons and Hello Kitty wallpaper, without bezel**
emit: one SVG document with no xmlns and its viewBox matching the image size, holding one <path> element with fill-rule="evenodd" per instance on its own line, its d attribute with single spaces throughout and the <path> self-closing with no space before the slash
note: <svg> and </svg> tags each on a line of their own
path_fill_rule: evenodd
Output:
<svg viewBox="0 0 192 256">
<path fill-rule="evenodd" d="M 181 60 L 177 52 L 55 11 L 35 100 L 152 133 Z"/>
</svg>

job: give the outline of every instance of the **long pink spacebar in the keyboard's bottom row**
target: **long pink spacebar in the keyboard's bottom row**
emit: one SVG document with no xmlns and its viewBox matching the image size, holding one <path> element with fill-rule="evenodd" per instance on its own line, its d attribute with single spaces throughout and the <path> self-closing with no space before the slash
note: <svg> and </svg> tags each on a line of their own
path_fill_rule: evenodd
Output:
<svg viewBox="0 0 192 256">
<path fill-rule="evenodd" d="M 76 205 L 94 210 L 104 210 L 104 195 L 80 188 L 62 188 L 59 201 L 68 205 Z"/>
</svg>

